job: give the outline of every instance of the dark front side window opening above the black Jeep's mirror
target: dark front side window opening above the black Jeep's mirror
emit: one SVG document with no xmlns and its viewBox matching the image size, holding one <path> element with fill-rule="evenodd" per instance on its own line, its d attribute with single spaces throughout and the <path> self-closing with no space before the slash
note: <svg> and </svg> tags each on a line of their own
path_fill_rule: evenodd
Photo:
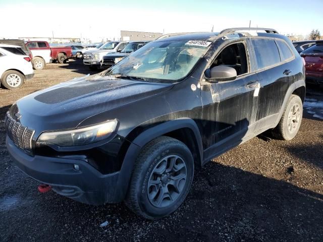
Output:
<svg viewBox="0 0 323 242">
<path fill-rule="evenodd" d="M 246 48 L 243 43 L 235 43 L 225 47 L 218 55 L 211 67 L 226 66 L 237 71 L 237 76 L 248 73 Z"/>
</svg>

